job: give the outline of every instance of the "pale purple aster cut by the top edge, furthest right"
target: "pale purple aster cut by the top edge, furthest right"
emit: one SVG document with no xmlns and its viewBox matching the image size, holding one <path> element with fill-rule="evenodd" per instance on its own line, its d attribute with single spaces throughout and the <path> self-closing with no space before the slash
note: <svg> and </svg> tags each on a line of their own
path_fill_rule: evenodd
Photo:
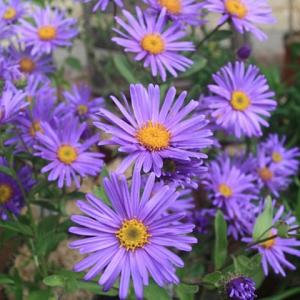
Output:
<svg viewBox="0 0 300 300">
<path fill-rule="evenodd" d="M 234 28 L 241 34 L 253 33 L 259 40 L 267 39 L 267 35 L 256 24 L 274 24 L 272 9 L 267 0 L 205 0 L 205 8 L 219 13 L 222 17 L 219 24 L 230 20 Z"/>
</svg>

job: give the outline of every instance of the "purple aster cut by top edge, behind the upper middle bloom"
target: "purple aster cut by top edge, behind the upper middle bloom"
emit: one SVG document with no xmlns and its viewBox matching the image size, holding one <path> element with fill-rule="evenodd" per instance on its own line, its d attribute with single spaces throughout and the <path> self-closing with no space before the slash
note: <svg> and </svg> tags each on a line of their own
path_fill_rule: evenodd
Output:
<svg viewBox="0 0 300 300">
<path fill-rule="evenodd" d="M 204 23 L 202 9 L 204 3 L 195 0 L 144 0 L 154 12 L 166 9 L 167 16 L 174 21 L 199 26 Z"/>
</svg>

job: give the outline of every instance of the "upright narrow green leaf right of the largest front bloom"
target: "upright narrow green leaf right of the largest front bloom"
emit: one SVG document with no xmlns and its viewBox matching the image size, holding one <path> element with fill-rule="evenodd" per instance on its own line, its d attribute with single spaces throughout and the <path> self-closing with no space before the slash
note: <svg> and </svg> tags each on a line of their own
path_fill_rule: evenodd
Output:
<svg viewBox="0 0 300 300">
<path fill-rule="evenodd" d="M 215 269 L 219 270 L 227 258 L 227 224 L 223 213 L 218 210 L 215 217 L 215 245 L 214 245 L 214 264 Z"/>
</svg>

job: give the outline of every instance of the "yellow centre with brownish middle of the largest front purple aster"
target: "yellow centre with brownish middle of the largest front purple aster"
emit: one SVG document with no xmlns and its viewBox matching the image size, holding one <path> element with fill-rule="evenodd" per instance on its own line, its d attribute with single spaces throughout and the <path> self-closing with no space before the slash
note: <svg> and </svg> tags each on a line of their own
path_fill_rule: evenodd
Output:
<svg viewBox="0 0 300 300">
<path fill-rule="evenodd" d="M 134 251 L 136 248 L 143 248 L 149 243 L 150 234 L 147 227 L 137 219 L 125 220 L 121 228 L 116 232 L 120 246 L 126 250 Z"/>
</svg>

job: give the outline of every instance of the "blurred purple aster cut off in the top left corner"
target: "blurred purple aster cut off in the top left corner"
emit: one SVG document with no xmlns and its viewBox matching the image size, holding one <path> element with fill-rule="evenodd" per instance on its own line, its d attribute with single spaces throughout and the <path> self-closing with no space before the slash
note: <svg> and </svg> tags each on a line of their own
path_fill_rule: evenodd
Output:
<svg viewBox="0 0 300 300">
<path fill-rule="evenodd" d="M 0 18 L 8 24 L 20 19 L 24 12 L 24 4 L 20 0 L 0 1 Z"/>
</svg>

